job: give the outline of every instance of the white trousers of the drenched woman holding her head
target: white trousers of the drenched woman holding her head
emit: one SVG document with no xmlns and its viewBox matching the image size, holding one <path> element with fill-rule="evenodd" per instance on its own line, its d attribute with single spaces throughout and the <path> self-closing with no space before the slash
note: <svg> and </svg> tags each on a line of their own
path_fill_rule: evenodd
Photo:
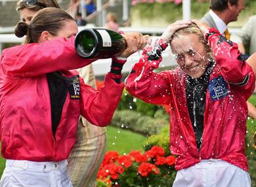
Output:
<svg viewBox="0 0 256 187">
<path fill-rule="evenodd" d="M 173 187 L 251 187 L 249 173 L 221 159 L 207 159 L 177 172 Z"/>
</svg>

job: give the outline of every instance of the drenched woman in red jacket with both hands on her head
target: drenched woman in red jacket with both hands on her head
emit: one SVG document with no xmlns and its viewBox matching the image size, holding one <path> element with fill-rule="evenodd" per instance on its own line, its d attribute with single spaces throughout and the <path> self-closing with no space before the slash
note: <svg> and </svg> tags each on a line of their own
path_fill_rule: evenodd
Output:
<svg viewBox="0 0 256 187">
<path fill-rule="evenodd" d="M 170 106 L 170 150 L 177 155 L 173 186 L 251 186 L 245 133 L 251 67 L 238 46 L 197 20 L 177 21 L 144 49 L 126 79 L 130 94 Z M 155 73 L 170 45 L 179 65 Z"/>
</svg>

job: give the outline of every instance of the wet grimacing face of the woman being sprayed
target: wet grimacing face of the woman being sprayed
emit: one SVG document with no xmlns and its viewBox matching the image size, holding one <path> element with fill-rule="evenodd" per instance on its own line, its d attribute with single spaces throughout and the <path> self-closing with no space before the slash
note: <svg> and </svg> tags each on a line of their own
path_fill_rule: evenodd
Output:
<svg viewBox="0 0 256 187">
<path fill-rule="evenodd" d="M 171 51 L 181 69 L 194 79 L 203 75 L 211 58 L 195 33 L 175 37 L 171 41 Z"/>
</svg>

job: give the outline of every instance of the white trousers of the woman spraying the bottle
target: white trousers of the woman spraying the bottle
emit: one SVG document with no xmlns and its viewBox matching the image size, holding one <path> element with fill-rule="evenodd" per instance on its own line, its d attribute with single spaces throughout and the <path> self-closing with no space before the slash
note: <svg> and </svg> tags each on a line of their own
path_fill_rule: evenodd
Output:
<svg viewBox="0 0 256 187">
<path fill-rule="evenodd" d="M 1 187 L 72 187 L 67 161 L 26 161 L 7 159 Z"/>
</svg>

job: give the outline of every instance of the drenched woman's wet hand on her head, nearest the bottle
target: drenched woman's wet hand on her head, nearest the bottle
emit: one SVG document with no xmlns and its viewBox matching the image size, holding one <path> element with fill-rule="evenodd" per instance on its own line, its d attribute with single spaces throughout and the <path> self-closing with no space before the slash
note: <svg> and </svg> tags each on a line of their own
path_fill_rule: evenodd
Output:
<svg viewBox="0 0 256 187">
<path fill-rule="evenodd" d="M 179 20 L 177 22 L 174 22 L 173 24 L 169 24 L 167 29 L 163 32 L 161 35 L 161 39 L 165 41 L 166 43 L 169 43 L 171 41 L 171 37 L 173 37 L 173 33 L 175 31 L 180 30 L 182 28 L 186 28 L 191 24 L 191 21 L 184 21 L 184 20 Z"/>
</svg>

